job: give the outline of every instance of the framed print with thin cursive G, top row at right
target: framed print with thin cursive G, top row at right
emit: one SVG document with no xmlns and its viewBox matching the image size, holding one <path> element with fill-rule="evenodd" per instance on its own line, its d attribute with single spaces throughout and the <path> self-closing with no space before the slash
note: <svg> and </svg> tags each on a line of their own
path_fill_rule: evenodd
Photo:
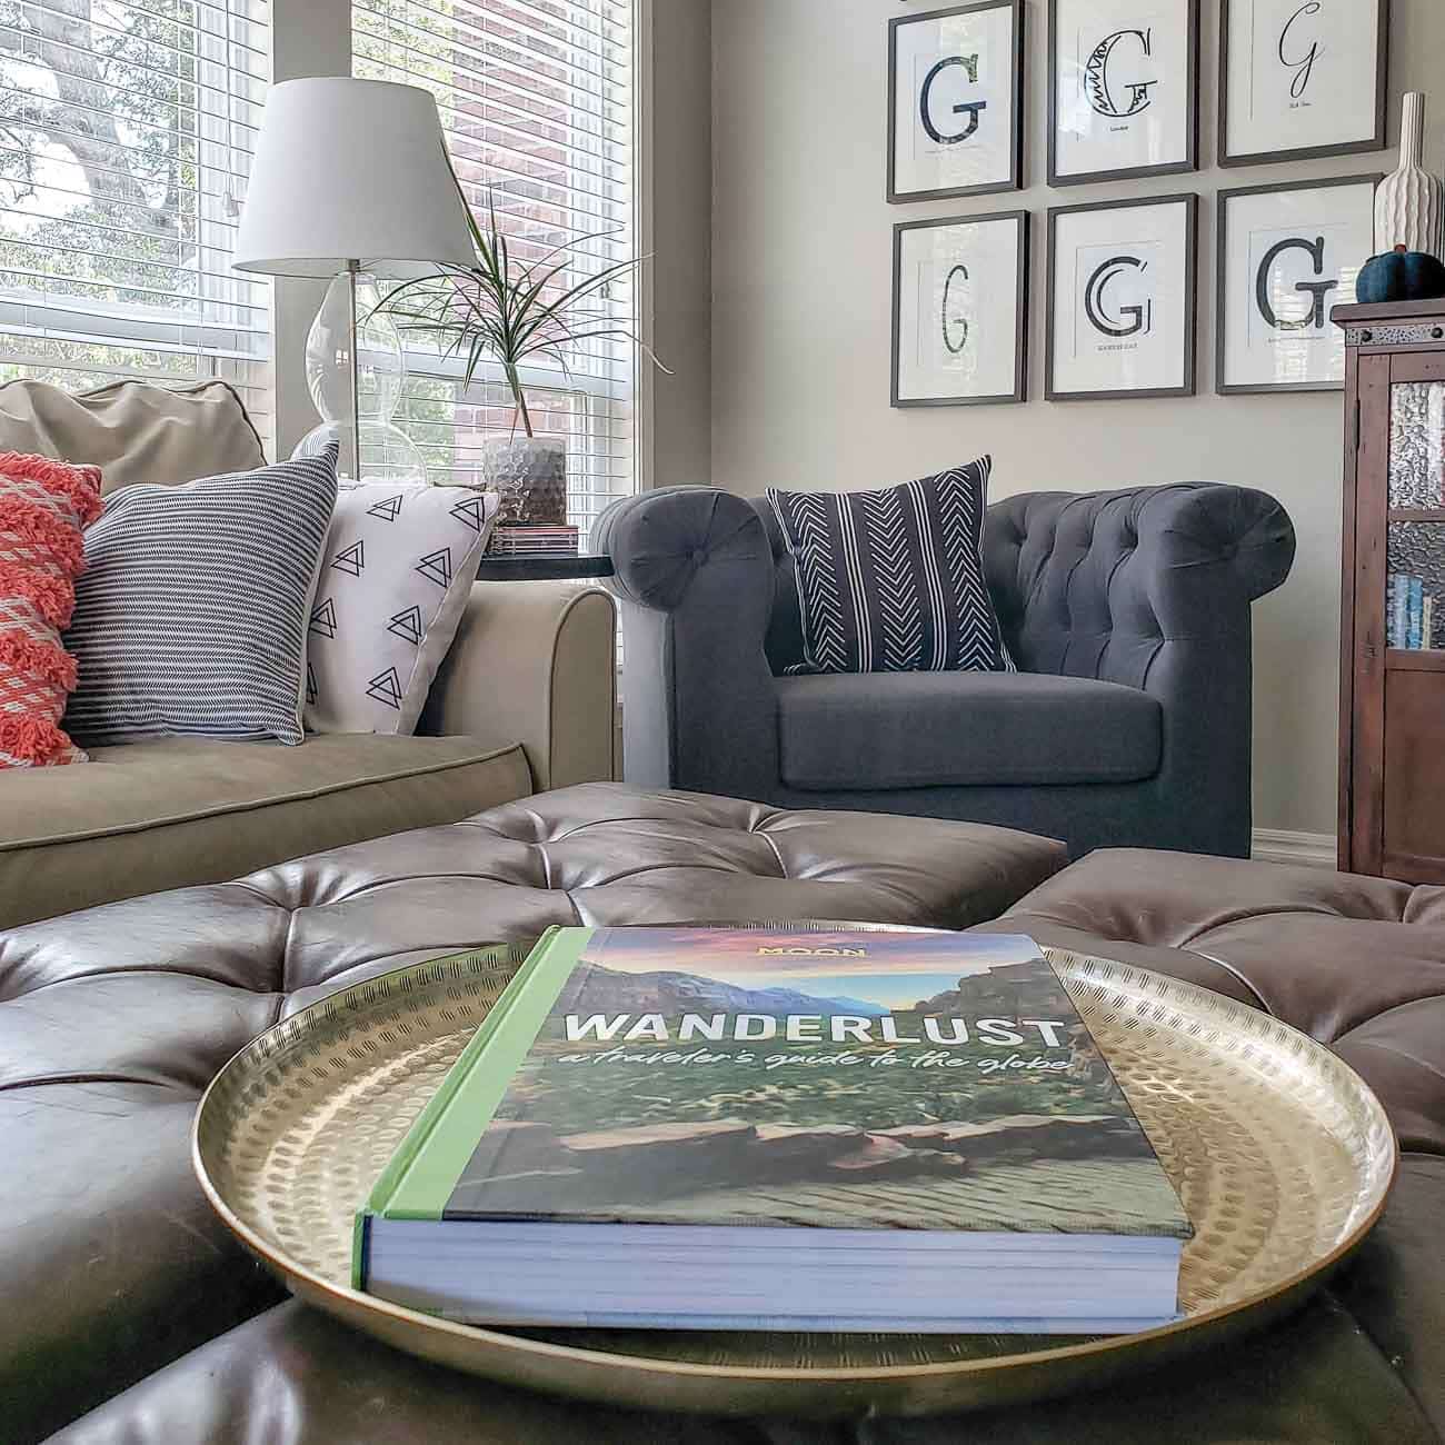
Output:
<svg viewBox="0 0 1445 1445">
<path fill-rule="evenodd" d="M 1220 163 L 1384 146 L 1389 0 L 1224 0 Z"/>
</svg>

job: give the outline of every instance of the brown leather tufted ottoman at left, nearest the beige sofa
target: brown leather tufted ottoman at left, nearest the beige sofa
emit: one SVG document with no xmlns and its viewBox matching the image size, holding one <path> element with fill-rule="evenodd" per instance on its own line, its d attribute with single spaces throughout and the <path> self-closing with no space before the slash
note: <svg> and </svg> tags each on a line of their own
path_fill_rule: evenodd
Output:
<svg viewBox="0 0 1445 1445">
<path fill-rule="evenodd" d="M 595 783 L 0 935 L 0 1445 L 282 1298 L 202 1199 L 188 1130 L 283 1013 L 551 923 L 964 928 L 1064 863 L 1001 828 Z"/>
</svg>

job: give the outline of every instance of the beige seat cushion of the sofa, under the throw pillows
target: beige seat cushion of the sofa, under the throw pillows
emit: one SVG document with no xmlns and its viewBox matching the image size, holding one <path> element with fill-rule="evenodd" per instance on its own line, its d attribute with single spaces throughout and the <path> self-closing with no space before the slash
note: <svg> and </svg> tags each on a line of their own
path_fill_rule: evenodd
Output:
<svg viewBox="0 0 1445 1445">
<path fill-rule="evenodd" d="M 88 767 L 0 776 L 0 928 L 452 822 L 530 790 L 520 744 L 467 737 L 98 747 Z"/>
</svg>

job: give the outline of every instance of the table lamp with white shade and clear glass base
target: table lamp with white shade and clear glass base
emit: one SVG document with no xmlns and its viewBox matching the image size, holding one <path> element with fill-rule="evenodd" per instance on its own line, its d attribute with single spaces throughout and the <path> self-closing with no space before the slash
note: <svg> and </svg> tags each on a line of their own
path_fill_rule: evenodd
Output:
<svg viewBox="0 0 1445 1445">
<path fill-rule="evenodd" d="M 315 77 L 272 88 L 233 266 L 331 276 L 306 335 L 306 384 L 322 422 L 293 455 L 341 447 L 341 470 L 425 481 L 392 425 L 406 366 L 396 325 L 363 263 L 475 259 L 436 101 L 415 85 Z"/>
</svg>

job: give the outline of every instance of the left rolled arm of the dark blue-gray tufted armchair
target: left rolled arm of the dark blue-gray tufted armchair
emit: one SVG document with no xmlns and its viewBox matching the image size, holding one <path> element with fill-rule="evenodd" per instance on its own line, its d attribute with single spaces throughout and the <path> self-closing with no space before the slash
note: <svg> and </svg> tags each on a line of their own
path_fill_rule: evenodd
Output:
<svg viewBox="0 0 1445 1445">
<path fill-rule="evenodd" d="M 624 776 L 763 798 L 777 779 L 764 652 L 773 552 L 741 497 L 665 487 L 614 503 L 592 533 L 623 617 Z"/>
</svg>

